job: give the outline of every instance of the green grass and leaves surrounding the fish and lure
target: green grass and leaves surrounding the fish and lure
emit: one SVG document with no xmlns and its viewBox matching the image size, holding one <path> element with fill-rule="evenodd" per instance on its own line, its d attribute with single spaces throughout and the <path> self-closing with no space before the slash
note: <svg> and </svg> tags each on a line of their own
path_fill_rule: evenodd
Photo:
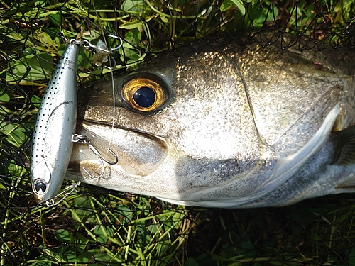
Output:
<svg viewBox="0 0 355 266">
<path fill-rule="evenodd" d="M 120 35 L 124 49 L 114 55 L 117 70 L 201 38 L 229 40 L 261 31 L 300 33 L 321 48 L 349 46 L 352 1 L 0 4 L 0 266 L 355 265 L 352 195 L 226 211 L 164 205 L 82 185 L 48 209 L 33 201 L 26 153 L 40 97 L 65 39 L 97 43 L 109 33 Z M 80 50 L 80 84 L 106 73 L 92 64 L 92 53 Z"/>
</svg>

